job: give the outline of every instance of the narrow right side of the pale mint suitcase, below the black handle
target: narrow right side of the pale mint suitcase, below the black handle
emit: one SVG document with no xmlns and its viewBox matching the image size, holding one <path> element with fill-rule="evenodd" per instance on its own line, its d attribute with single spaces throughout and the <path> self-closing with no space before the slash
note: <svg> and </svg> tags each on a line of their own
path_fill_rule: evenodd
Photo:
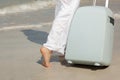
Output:
<svg viewBox="0 0 120 80">
<path fill-rule="evenodd" d="M 107 20 L 106 35 L 105 35 L 105 44 L 104 44 L 104 54 L 103 62 L 106 65 L 110 65 L 112 60 L 112 50 L 113 50 L 113 39 L 114 39 L 114 24 L 110 22 L 110 17 Z"/>
</svg>

